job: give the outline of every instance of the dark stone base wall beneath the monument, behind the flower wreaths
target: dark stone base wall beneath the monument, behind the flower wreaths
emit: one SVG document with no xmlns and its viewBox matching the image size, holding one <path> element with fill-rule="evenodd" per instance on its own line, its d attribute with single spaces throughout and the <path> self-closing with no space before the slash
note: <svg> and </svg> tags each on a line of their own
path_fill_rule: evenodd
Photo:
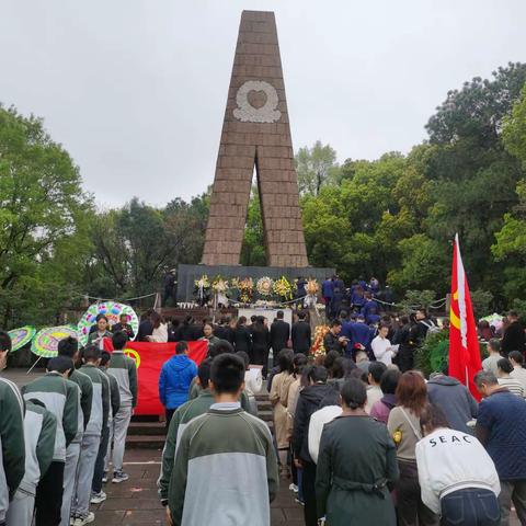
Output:
<svg viewBox="0 0 526 526">
<path fill-rule="evenodd" d="M 178 301 L 192 301 L 194 299 L 195 281 L 199 279 L 204 274 L 208 278 L 217 275 L 222 276 L 225 279 L 251 277 L 254 282 L 264 276 L 268 276 L 272 279 L 278 279 L 282 276 L 285 276 L 287 279 L 313 277 L 321 286 L 321 283 L 334 273 L 334 268 L 315 268 L 313 266 L 293 268 L 283 266 L 179 265 Z"/>
</svg>

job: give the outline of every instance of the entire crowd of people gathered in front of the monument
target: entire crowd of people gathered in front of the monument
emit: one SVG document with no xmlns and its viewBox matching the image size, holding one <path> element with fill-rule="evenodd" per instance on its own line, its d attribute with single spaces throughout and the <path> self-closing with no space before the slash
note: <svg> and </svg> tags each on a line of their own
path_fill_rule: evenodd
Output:
<svg viewBox="0 0 526 526">
<path fill-rule="evenodd" d="M 153 331 L 156 320 L 144 322 Z M 89 524 L 104 481 L 127 479 L 137 371 L 122 353 L 126 327 L 111 333 L 106 321 L 98 320 L 81 352 L 75 339 L 59 342 L 47 374 L 22 392 L 0 377 L 0 525 L 33 517 L 37 526 Z M 500 335 L 487 334 L 488 358 L 474 377 L 480 403 L 447 365 L 430 378 L 414 370 L 414 350 L 439 330 L 424 309 L 375 325 L 340 311 L 327 353 L 316 357 L 305 312 L 293 327 L 283 312 L 270 327 L 242 317 L 168 325 L 168 334 L 180 331 L 159 377 L 167 442 L 158 485 L 168 524 L 215 517 L 267 526 L 279 483 L 302 505 L 306 526 L 507 525 L 512 503 L 526 524 L 526 348 L 517 313 Z M 182 335 L 208 340 L 198 366 Z M 101 348 L 104 338 L 112 354 Z M 1 332 L 0 369 L 10 345 Z M 263 373 L 268 348 L 275 358 Z M 264 377 L 273 434 L 258 418 Z"/>
</svg>

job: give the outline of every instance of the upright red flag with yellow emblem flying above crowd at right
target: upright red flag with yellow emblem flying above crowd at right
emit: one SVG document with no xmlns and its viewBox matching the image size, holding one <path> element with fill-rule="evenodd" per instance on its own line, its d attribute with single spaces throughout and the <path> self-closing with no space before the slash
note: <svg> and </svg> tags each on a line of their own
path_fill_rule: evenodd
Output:
<svg viewBox="0 0 526 526">
<path fill-rule="evenodd" d="M 453 252 L 449 320 L 449 375 L 460 380 L 469 388 L 471 395 L 480 400 L 479 391 L 473 384 L 474 375 L 482 368 L 479 339 L 458 233 L 455 236 Z"/>
</svg>

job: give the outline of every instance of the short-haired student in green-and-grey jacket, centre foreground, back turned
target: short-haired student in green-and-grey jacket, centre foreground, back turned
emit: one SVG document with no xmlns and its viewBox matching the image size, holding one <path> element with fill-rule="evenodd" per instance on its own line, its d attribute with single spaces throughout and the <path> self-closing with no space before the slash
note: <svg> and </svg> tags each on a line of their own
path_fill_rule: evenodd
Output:
<svg viewBox="0 0 526 526">
<path fill-rule="evenodd" d="M 188 423 L 170 479 L 172 524 L 268 526 L 278 490 L 276 454 L 268 427 L 239 402 L 244 365 L 217 356 L 210 370 L 215 403 Z"/>
</svg>

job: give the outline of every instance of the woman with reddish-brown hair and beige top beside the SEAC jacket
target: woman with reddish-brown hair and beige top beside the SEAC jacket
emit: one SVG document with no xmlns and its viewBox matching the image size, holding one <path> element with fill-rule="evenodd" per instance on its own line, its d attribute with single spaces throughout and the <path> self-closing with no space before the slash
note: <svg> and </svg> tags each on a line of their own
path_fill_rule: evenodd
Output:
<svg viewBox="0 0 526 526">
<path fill-rule="evenodd" d="M 434 526 L 438 517 L 422 502 L 415 448 L 422 439 L 420 418 L 427 404 L 427 389 L 422 375 L 408 370 L 398 381 L 397 407 L 391 409 L 387 427 L 397 445 L 400 480 L 397 484 L 397 512 L 400 526 Z"/>
</svg>

